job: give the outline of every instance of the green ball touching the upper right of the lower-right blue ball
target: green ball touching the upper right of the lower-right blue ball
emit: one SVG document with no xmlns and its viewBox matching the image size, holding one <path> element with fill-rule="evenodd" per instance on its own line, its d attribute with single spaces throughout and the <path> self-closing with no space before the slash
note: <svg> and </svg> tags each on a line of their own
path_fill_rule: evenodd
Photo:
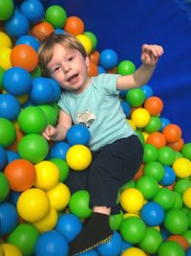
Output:
<svg viewBox="0 0 191 256">
<path fill-rule="evenodd" d="M 170 210 L 175 203 L 175 194 L 167 188 L 160 188 L 153 200 L 165 210 Z"/>
</svg>

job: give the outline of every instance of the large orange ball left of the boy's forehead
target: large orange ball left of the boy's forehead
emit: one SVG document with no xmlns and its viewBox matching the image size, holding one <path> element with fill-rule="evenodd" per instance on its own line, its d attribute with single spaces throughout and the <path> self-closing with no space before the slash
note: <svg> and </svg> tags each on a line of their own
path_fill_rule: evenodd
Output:
<svg viewBox="0 0 191 256">
<path fill-rule="evenodd" d="M 38 55 L 32 46 L 27 44 L 19 44 L 11 50 L 11 65 L 19 66 L 32 72 L 38 64 Z"/>
</svg>

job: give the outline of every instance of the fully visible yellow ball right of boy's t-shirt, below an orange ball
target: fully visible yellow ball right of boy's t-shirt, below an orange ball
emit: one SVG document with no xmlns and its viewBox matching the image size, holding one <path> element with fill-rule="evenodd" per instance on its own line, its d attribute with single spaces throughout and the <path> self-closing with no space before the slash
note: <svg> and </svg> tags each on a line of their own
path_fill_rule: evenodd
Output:
<svg viewBox="0 0 191 256">
<path fill-rule="evenodd" d="M 144 128 L 149 124 L 150 113 L 145 108 L 136 108 L 131 114 L 131 120 L 137 128 Z"/>
</svg>

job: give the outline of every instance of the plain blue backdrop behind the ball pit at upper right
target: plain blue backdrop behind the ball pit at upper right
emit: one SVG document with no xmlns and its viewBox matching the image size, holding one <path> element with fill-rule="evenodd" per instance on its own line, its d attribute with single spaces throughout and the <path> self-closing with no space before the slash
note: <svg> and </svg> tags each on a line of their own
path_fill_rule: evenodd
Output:
<svg viewBox="0 0 191 256">
<path fill-rule="evenodd" d="M 143 43 L 158 43 L 165 54 L 149 81 L 164 103 L 160 116 L 182 129 L 191 142 L 191 2 L 186 0 L 49 0 L 79 16 L 98 39 L 97 50 L 115 50 L 119 60 L 140 64 Z"/>
</svg>

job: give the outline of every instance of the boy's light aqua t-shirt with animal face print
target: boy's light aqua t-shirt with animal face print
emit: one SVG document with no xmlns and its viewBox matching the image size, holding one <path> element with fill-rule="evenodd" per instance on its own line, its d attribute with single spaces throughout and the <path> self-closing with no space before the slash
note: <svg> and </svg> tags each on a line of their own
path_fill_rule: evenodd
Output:
<svg viewBox="0 0 191 256">
<path fill-rule="evenodd" d="M 82 93 L 63 91 L 58 101 L 59 107 L 72 117 L 74 124 L 81 123 L 90 129 L 88 147 L 92 151 L 135 133 L 126 121 L 118 99 L 117 77 L 100 74 L 92 78 Z"/>
</svg>

